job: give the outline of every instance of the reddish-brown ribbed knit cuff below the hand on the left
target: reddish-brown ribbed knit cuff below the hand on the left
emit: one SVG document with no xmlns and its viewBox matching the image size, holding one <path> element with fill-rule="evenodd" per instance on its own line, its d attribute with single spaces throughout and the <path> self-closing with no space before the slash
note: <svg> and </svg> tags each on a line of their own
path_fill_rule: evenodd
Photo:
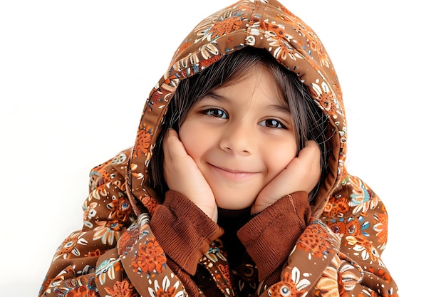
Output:
<svg viewBox="0 0 446 297">
<path fill-rule="evenodd" d="M 155 209 L 150 228 L 165 254 L 192 275 L 209 244 L 223 234 L 207 214 L 175 191 L 165 194 L 165 202 Z"/>
</svg>

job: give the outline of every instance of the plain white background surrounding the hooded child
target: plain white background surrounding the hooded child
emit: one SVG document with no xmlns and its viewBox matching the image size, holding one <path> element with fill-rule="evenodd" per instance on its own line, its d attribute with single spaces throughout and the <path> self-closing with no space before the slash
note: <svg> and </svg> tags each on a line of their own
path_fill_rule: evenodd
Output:
<svg viewBox="0 0 446 297">
<path fill-rule="evenodd" d="M 133 145 L 177 45 L 232 2 L 1 1 L 0 296 L 37 296 L 82 226 L 90 169 Z M 444 285 L 446 24 L 434 2 L 283 0 L 338 72 L 347 166 L 388 208 L 383 259 L 401 296 Z"/>
</svg>

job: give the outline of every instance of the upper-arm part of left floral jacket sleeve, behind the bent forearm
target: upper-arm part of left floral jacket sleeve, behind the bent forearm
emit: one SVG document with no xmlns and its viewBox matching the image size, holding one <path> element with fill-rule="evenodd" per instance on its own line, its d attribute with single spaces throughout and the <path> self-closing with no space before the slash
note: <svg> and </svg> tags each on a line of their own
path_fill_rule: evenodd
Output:
<svg viewBox="0 0 446 297">
<path fill-rule="evenodd" d="M 91 170 L 82 229 L 71 233 L 56 249 L 39 296 L 65 296 L 84 289 L 94 296 L 96 261 L 116 245 L 133 220 L 124 179 L 129 154 L 130 149 L 120 152 Z"/>
</svg>

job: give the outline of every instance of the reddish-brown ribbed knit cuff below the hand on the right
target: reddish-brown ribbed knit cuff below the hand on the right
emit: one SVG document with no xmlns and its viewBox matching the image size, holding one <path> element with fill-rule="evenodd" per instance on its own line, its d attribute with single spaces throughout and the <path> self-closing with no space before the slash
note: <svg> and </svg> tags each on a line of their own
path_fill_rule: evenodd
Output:
<svg viewBox="0 0 446 297">
<path fill-rule="evenodd" d="M 279 199 L 256 215 L 237 233 L 263 281 L 288 259 L 311 216 L 306 192 Z"/>
</svg>

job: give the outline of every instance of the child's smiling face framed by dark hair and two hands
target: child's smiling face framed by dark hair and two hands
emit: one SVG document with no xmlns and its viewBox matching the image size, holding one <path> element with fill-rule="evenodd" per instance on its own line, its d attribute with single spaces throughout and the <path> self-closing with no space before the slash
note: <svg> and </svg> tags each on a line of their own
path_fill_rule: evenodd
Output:
<svg viewBox="0 0 446 297">
<path fill-rule="evenodd" d="M 212 189 L 218 207 L 250 207 L 297 155 L 289 108 L 263 67 L 199 100 L 180 140 Z"/>
</svg>

